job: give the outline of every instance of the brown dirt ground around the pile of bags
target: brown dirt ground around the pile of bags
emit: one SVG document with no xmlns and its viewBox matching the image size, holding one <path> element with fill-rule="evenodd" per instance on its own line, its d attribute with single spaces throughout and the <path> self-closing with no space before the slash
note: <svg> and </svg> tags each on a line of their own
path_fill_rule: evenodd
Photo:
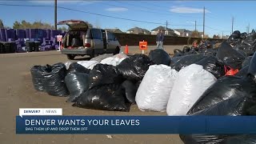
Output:
<svg viewBox="0 0 256 144">
<path fill-rule="evenodd" d="M 123 46 L 122 46 L 123 47 Z M 171 53 L 182 46 L 165 46 Z M 137 46 L 129 46 L 129 52 L 139 52 Z M 150 49 L 154 46 L 150 46 Z M 146 51 L 147 53 L 149 50 Z M 86 58 L 84 58 L 86 60 Z M 50 96 L 34 90 L 30 67 L 34 65 L 66 62 L 66 55 L 58 51 L 22 54 L 0 54 L 0 143 L 1 144 L 79 144 L 79 143 L 182 143 L 177 134 L 15 134 L 15 116 L 19 108 L 62 108 L 63 115 L 166 115 L 166 113 L 142 112 L 132 106 L 130 112 L 86 110 L 72 107 L 66 98 Z"/>
</svg>

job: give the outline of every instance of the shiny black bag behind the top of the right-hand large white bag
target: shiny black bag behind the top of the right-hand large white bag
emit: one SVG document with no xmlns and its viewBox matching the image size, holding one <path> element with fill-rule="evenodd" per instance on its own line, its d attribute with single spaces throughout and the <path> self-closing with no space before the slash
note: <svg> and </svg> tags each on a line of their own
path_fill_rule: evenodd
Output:
<svg viewBox="0 0 256 144">
<path fill-rule="evenodd" d="M 203 66 L 203 69 L 207 70 L 211 74 L 214 74 L 215 78 L 221 78 L 225 75 L 223 62 L 214 56 L 203 58 L 201 61 L 198 61 L 195 64 Z"/>
</svg>

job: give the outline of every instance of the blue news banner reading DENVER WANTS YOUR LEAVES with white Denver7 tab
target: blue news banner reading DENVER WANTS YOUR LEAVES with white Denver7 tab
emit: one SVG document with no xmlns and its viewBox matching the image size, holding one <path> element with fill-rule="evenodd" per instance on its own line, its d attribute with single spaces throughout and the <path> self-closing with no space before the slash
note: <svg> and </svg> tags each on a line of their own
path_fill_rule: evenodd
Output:
<svg viewBox="0 0 256 144">
<path fill-rule="evenodd" d="M 16 134 L 256 134 L 256 116 L 64 116 L 21 108 Z"/>
</svg>

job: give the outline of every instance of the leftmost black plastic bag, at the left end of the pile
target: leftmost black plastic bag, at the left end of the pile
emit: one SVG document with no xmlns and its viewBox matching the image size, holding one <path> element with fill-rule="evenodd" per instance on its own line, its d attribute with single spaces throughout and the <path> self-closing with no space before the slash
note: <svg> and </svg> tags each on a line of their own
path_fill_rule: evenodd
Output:
<svg viewBox="0 0 256 144">
<path fill-rule="evenodd" d="M 43 86 L 42 80 L 47 72 L 50 72 L 51 66 L 33 66 L 30 69 L 30 73 L 32 76 L 32 82 L 35 90 L 44 91 L 45 88 Z"/>
</svg>

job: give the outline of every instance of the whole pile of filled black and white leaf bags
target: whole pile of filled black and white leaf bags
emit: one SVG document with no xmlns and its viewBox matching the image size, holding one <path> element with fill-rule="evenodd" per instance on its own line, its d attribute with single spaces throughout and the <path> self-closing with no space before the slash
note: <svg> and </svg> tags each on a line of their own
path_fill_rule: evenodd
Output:
<svg viewBox="0 0 256 144">
<path fill-rule="evenodd" d="M 181 115 L 256 114 L 256 33 L 238 31 L 214 46 L 184 46 L 174 56 L 103 54 L 90 61 L 31 68 L 34 88 L 94 110 Z M 255 96 L 255 97 L 254 97 Z M 254 143 L 256 135 L 180 135 L 185 143 Z"/>
</svg>

